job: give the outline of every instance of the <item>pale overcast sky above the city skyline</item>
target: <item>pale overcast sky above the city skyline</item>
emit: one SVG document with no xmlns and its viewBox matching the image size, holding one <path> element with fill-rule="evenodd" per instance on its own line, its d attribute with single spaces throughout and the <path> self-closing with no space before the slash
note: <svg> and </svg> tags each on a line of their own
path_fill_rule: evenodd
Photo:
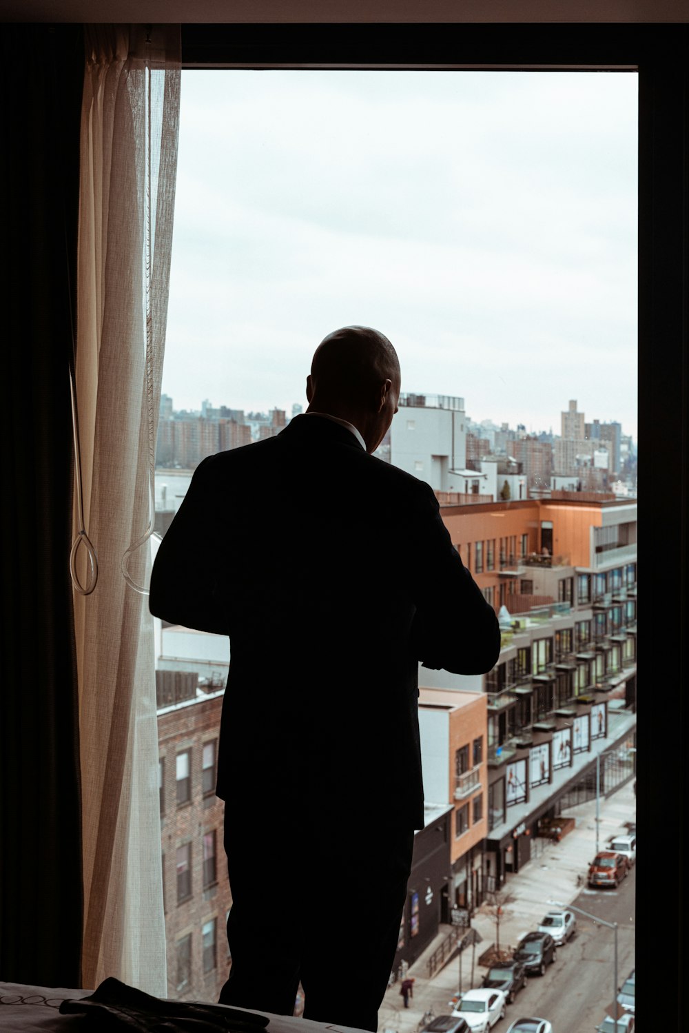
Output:
<svg viewBox="0 0 689 1033">
<path fill-rule="evenodd" d="M 163 392 L 306 406 L 325 334 L 402 388 L 636 437 L 636 76 L 184 71 Z"/>
</svg>

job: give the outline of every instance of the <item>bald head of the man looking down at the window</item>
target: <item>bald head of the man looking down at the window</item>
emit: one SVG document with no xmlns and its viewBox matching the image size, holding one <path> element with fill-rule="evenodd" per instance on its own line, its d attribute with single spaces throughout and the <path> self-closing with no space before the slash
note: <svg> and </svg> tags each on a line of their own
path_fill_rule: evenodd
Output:
<svg viewBox="0 0 689 1033">
<path fill-rule="evenodd" d="M 384 334 L 343 326 L 320 342 L 307 380 L 309 411 L 353 424 L 369 451 L 382 440 L 397 412 L 400 361 Z"/>
</svg>

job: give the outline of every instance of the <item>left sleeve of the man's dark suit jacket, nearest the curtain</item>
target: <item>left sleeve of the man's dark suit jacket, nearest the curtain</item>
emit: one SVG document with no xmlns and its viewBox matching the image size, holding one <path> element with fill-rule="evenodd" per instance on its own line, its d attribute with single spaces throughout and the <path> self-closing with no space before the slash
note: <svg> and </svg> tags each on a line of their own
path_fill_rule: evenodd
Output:
<svg viewBox="0 0 689 1033">
<path fill-rule="evenodd" d="M 196 467 L 186 496 L 158 547 L 149 609 L 170 624 L 228 634 L 217 571 L 223 542 L 211 534 L 213 457 Z"/>
</svg>

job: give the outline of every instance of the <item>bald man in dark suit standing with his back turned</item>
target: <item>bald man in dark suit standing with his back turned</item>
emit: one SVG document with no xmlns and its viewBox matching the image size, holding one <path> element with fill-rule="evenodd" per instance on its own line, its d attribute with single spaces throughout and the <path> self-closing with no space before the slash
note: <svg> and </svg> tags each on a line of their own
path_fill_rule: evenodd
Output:
<svg viewBox="0 0 689 1033">
<path fill-rule="evenodd" d="M 150 596 L 230 638 L 221 1002 L 291 1014 L 301 979 L 305 1018 L 369 1030 L 424 826 L 418 661 L 476 674 L 500 651 L 431 488 L 370 455 L 400 383 L 383 335 L 328 335 L 307 412 L 197 467 Z"/>
</svg>

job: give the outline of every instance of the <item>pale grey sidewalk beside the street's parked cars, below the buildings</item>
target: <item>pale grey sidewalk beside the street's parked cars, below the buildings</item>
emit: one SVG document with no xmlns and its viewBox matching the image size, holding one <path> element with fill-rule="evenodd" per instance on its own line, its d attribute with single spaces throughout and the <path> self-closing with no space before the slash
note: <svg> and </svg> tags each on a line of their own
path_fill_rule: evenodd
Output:
<svg viewBox="0 0 689 1033">
<path fill-rule="evenodd" d="M 501 893 L 507 899 L 503 904 L 504 913 L 500 921 L 501 947 L 516 946 L 525 933 L 535 930 L 552 907 L 547 903 L 550 900 L 568 904 L 582 890 L 576 877 L 586 877 L 589 863 L 596 851 L 596 802 L 581 804 L 564 813 L 576 819 L 575 827 L 560 843 L 539 839 L 529 864 L 516 875 L 508 875 L 502 886 Z M 609 836 L 624 829 L 625 822 L 634 821 L 635 815 L 636 797 L 632 779 L 609 800 L 600 802 L 599 848 L 604 848 Z M 476 945 L 473 982 L 471 947 L 462 954 L 464 990 L 480 984 L 487 970 L 478 965 L 478 958 L 496 939 L 495 921 L 486 904 L 474 912 L 471 925 L 482 937 L 482 942 Z M 458 957 L 436 972 L 433 979 L 429 979 L 427 974 L 428 959 L 440 946 L 450 929 L 450 926 L 441 926 L 438 936 L 410 966 L 409 975 L 414 978 L 414 996 L 409 1001 L 409 1008 L 404 1007 L 399 982 L 388 989 L 378 1011 L 379 1033 L 416 1033 L 424 1013 L 430 1008 L 433 1008 L 436 1015 L 451 1011 L 448 1002 L 458 990 Z"/>
</svg>

